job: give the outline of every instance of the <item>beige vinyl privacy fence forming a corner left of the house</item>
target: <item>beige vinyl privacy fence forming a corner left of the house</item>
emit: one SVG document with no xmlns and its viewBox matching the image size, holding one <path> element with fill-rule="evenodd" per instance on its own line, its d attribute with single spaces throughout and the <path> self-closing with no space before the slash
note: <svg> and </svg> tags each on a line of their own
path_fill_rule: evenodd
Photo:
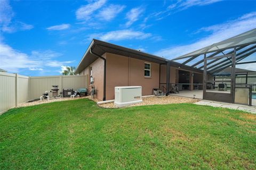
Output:
<svg viewBox="0 0 256 170">
<path fill-rule="evenodd" d="M 59 86 L 59 93 L 63 88 L 88 88 L 88 76 L 27 77 L 0 72 L 0 115 L 20 103 L 39 98 L 46 90 L 51 90 L 53 85 Z"/>
</svg>

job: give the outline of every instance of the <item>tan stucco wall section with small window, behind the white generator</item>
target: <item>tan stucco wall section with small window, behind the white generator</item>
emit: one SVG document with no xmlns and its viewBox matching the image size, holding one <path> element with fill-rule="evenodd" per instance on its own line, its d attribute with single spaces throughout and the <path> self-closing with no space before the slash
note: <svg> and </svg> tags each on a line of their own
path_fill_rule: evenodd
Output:
<svg viewBox="0 0 256 170">
<path fill-rule="evenodd" d="M 116 86 L 142 86 L 142 95 L 151 95 L 158 88 L 159 64 L 106 53 L 106 100 L 115 98 Z M 151 78 L 144 77 L 144 63 L 151 64 Z"/>
</svg>

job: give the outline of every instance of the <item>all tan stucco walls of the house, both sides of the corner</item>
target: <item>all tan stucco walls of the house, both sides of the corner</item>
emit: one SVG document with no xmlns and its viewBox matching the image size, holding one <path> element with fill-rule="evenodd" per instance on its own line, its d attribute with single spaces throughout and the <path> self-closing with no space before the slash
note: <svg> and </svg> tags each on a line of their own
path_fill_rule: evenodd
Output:
<svg viewBox="0 0 256 170">
<path fill-rule="evenodd" d="M 106 100 L 115 98 L 116 86 L 142 86 L 142 95 L 151 95 L 153 88 L 159 87 L 159 64 L 151 63 L 135 58 L 129 58 L 121 55 L 105 53 L 102 55 L 107 60 L 106 67 Z M 151 64 L 151 77 L 144 77 L 144 63 Z M 95 96 L 99 100 L 103 99 L 103 75 L 104 62 L 100 58 L 93 62 L 92 76 L 94 77 L 94 86 L 98 90 Z M 90 66 L 86 67 L 80 74 L 88 74 L 89 91 L 90 87 Z M 179 82 L 178 68 L 170 68 L 170 83 Z M 201 74 L 202 75 L 202 74 Z M 166 83 L 166 65 L 161 65 L 161 83 Z M 161 84 L 166 87 L 166 84 Z"/>
</svg>

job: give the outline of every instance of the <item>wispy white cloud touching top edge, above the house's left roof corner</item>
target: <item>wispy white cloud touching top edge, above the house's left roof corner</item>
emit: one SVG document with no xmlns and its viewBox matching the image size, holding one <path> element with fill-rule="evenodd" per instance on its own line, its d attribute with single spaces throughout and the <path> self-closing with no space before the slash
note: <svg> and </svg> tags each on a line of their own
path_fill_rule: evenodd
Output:
<svg viewBox="0 0 256 170">
<path fill-rule="evenodd" d="M 106 3 L 106 0 L 99 0 L 87 5 L 83 5 L 76 11 L 76 19 L 78 20 L 89 20 L 91 14 L 101 8 Z"/>
</svg>

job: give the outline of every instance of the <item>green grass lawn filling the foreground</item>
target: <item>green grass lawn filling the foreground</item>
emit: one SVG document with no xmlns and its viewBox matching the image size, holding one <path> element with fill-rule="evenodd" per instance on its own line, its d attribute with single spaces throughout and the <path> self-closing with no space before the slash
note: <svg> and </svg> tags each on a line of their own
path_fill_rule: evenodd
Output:
<svg viewBox="0 0 256 170">
<path fill-rule="evenodd" d="M 256 115 L 194 104 L 103 109 L 78 99 L 0 116 L 0 169 L 212 168 L 256 168 Z"/>
</svg>

